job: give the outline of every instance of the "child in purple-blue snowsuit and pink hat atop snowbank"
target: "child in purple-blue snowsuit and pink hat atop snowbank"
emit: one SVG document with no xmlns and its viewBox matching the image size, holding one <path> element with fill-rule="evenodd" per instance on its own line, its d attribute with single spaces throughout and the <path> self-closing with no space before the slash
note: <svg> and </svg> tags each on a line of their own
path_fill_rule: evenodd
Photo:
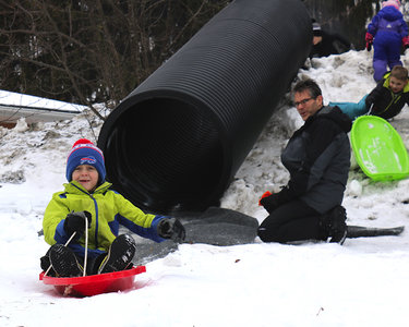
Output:
<svg viewBox="0 0 409 327">
<path fill-rule="evenodd" d="M 408 26 L 399 11 L 399 0 L 389 0 L 382 3 L 382 9 L 368 25 L 365 35 L 366 49 L 373 44 L 374 80 L 378 82 L 386 73 L 387 66 L 399 64 L 401 46 L 409 47 Z"/>
</svg>

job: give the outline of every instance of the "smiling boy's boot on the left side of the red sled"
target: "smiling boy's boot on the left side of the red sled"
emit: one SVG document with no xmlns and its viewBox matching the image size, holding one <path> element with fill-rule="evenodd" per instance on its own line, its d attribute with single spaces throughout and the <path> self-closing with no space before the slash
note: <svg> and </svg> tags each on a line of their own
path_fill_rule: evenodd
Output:
<svg viewBox="0 0 409 327">
<path fill-rule="evenodd" d="M 83 267 L 79 264 L 72 250 L 62 244 L 55 244 L 49 250 L 51 266 L 59 277 L 79 277 L 83 275 Z"/>
</svg>

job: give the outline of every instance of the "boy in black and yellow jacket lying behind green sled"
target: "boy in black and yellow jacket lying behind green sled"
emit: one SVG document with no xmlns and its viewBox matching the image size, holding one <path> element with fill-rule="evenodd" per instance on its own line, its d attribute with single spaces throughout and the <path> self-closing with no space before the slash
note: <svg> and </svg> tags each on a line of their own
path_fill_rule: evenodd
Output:
<svg viewBox="0 0 409 327">
<path fill-rule="evenodd" d="M 338 106 L 344 113 L 354 120 L 365 113 L 390 119 L 398 114 L 406 104 L 409 105 L 408 70 L 395 65 L 358 104 L 329 102 L 329 106 Z"/>
</svg>

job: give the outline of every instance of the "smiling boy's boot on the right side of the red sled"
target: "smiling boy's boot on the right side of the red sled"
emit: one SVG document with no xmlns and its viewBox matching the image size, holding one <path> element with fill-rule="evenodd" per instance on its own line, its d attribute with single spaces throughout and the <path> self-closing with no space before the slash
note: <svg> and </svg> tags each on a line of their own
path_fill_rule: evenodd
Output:
<svg viewBox="0 0 409 327">
<path fill-rule="evenodd" d="M 108 255 L 99 266 L 98 274 L 127 269 L 127 267 L 132 264 L 135 247 L 135 241 L 131 235 L 119 235 L 109 247 Z"/>
</svg>

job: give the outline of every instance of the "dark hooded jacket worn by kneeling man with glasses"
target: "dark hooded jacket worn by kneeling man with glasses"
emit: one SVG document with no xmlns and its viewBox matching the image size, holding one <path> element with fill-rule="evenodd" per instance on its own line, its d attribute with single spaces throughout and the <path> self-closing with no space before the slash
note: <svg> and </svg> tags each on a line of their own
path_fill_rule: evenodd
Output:
<svg viewBox="0 0 409 327">
<path fill-rule="evenodd" d="M 290 180 L 279 193 L 262 199 L 268 211 L 301 199 L 324 214 L 340 205 L 350 168 L 347 133 L 351 120 L 338 107 L 323 107 L 294 132 L 281 154 Z"/>
</svg>

